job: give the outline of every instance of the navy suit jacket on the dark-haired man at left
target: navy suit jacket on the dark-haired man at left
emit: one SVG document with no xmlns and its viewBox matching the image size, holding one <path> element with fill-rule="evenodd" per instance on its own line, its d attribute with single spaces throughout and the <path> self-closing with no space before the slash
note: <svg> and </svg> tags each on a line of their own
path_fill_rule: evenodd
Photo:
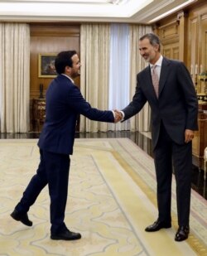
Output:
<svg viewBox="0 0 207 256">
<path fill-rule="evenodd" d="M 91 120 L 114 122 L 112 111 L 91 108 L 79 88 L 65 75 L 58 75 L 46 91 L 46 121 L 38 146 L 48 152 L 72 154 L 78 114 Z"/>
</svg>

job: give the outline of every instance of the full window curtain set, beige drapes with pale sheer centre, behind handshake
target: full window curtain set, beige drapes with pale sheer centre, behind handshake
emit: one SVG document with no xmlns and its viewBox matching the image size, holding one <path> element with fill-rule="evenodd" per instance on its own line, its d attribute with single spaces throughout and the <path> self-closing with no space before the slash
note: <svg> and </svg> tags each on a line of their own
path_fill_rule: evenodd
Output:
<svg viewBox="0 0 207 256">
<path fill-rule="evenodd" d="M 123 109 L 132 100 L 137 73 L 148 64 L 139 54 L 139 38 L 151 26 L 83 24 L 80 29 L 80 88 L 84 98 L 98 109 Z M 108 88 L 109 84 L 109 88 Z M 150 131 L 151 109 L 123 123 L 99 123 L 80 117 L 80 132 L 107 130 Z"/>
</svg>

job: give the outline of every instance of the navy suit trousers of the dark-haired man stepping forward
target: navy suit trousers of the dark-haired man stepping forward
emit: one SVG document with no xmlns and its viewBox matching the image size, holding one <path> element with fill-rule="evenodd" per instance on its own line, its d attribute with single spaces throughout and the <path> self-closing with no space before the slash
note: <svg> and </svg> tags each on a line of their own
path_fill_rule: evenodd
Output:
<svg viewBox="0 0 207 256">
<path fill-rule="evenodd" d="M 70 156 L 40 150 L 41 161 L 36 175 L 31 178 L 22 199 L 15 209 L 26 213 L 36 201 L 41 190 L 48 184 L 51 197 L 51 233 L 65 229 L 65 206 L 68 196 Z"/>
</svg>

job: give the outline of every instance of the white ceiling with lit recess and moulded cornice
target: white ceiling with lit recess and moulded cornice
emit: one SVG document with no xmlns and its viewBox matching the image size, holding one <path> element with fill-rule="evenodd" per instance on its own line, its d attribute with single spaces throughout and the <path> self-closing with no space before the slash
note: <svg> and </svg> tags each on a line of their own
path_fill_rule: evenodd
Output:
<svg viewBox="0 0 207 256">
<path fill-rule="evenodd" d="M 151 24 L 198 0 L 0 0 L 0 21 Z"/>
</svg>

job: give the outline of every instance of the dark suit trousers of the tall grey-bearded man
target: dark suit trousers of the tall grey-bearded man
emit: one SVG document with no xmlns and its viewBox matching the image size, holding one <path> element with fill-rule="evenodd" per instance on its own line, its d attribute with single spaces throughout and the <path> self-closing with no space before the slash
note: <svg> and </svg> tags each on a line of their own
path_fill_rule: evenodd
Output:
<svg viewBox="0 0 207 256">
<path fill-rule="evenodd" d="M 174 172 L 178 225 L 189 225 L 192 142 L 177 144 L 172 141 L 161 123 L 159 139 L 154 149 L 154 161 L 158 220 L 171 223 L 171 181 Z"/>
</svg>

